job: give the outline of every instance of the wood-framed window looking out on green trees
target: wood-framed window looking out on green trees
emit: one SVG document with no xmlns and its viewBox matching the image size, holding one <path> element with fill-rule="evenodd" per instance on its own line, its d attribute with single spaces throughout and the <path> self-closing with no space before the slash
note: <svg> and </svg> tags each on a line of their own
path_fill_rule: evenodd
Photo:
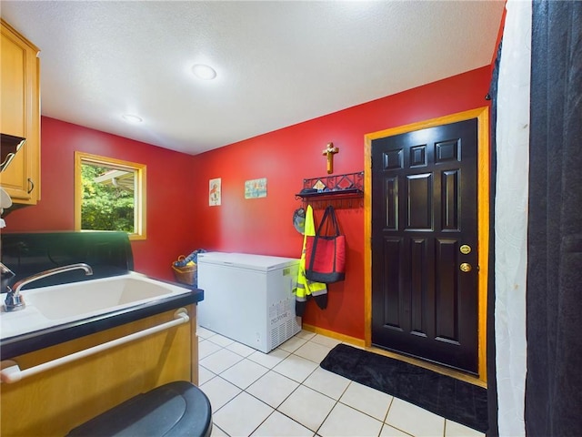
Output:
<svg viewBox="0 0 582 437">
<path fill-rule="evenodd" d="M 75 229 L 146 239 L 146 165 L 75 152 Z"/>
</svg>

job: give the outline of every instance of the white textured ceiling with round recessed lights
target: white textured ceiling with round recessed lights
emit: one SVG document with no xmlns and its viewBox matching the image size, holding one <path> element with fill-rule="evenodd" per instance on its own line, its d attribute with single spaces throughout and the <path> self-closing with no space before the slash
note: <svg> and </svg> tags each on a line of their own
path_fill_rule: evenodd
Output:
<svg viewBox="0 0 582 437">
<path fill-rule="evenodd" d="M 2 0 L 0 12 L 41 50 L 44 116 L 195 155 L 486 66 L 504 5 Z"/>
</svg>

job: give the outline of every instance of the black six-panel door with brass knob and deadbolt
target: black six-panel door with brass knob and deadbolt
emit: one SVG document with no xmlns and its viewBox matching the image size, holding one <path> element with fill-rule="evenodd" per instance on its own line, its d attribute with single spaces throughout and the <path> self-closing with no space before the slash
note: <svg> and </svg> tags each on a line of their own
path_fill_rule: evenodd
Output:
<svg viewBox="0 0 582 437">
<path fill-rule="evenodd" d="M 372 343 L 477 374 L 477 118 L 372 141 Z"/>
</svg>

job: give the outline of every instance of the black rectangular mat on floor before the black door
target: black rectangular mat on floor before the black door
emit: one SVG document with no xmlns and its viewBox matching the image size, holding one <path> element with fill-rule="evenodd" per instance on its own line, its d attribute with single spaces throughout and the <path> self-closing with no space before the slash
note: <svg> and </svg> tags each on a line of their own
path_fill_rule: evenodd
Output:
<svg viewBox="0 0 582 437">
<path fill-rule="evenodd" d="M 404 361 L 338 344 L 321 367 L 414 403 L 453 422 L 487 432 L 487 389 Z"/>
</svg>

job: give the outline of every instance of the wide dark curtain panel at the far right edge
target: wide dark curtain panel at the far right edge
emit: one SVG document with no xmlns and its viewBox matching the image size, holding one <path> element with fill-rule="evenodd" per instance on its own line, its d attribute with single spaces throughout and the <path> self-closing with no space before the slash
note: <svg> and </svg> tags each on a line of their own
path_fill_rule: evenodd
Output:
<svg viewBox="0 0 582 437">
<path fill-rule="evenodd" d="M 582 435 L 582 2 L 533 3 L 526 432 Z"/>
</svg>

